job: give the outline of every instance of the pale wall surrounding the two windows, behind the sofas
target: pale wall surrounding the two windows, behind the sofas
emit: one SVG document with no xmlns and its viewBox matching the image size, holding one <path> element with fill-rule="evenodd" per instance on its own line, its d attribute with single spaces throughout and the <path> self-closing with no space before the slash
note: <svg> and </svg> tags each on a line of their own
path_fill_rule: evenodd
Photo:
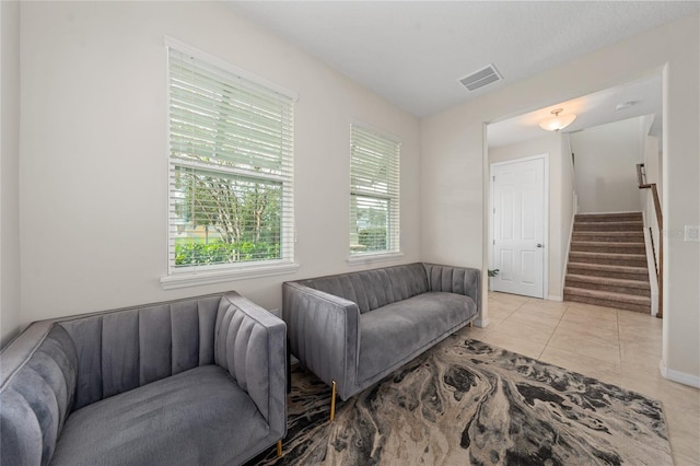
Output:
<svg viewBox="0 0 700 466">
<path fill-rule="evenodd" d="M 273 308 L 284 280 L 372 267 L 347 263 L 353 119 L 401 140 L 404 256 L 394 264 L 419 260 L 415 116 L 225 2 L 22 2 L 21 9 L 23 323 L 231 289 Z M 162 288 L 166 35 L 299 94 L 296 272 Z"/>
</svg>

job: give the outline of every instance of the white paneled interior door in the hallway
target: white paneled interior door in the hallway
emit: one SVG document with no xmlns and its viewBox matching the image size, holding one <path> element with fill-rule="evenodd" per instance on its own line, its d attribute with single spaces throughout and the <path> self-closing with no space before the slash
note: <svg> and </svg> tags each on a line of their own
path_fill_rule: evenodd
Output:
<svg viewBox="0 0 700 466">
<path fill-rule="evenodd" d="M 545 298 L 545 158 L 491 165 L 491 289 Z"/>
</svg>

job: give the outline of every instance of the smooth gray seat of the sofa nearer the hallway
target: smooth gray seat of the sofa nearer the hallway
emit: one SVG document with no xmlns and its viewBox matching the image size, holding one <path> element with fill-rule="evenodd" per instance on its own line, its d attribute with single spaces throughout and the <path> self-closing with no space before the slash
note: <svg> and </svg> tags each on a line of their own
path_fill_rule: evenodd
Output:
<svg viewBox="0 0 700 466">
<path fill-rule="evenodd" d="M 386 368 L 408 362 L 476 313 L 477 305 L 469 296 L 429 292 L 363 314 L 358 383 L 386 375 Z"/>
</svg>

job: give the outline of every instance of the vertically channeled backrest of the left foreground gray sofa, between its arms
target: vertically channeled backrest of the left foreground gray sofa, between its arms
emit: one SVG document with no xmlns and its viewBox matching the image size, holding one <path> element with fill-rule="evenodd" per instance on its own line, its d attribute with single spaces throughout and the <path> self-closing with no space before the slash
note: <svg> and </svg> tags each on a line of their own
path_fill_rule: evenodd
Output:
<svg viewBox="0 0 700 466">
<path fill-rule="evenodd" d="M 220 301 L 213 295 L 60 319 L 78 351 L 75 409 L 213 363 L 207 346 Z"/>
</svg>

